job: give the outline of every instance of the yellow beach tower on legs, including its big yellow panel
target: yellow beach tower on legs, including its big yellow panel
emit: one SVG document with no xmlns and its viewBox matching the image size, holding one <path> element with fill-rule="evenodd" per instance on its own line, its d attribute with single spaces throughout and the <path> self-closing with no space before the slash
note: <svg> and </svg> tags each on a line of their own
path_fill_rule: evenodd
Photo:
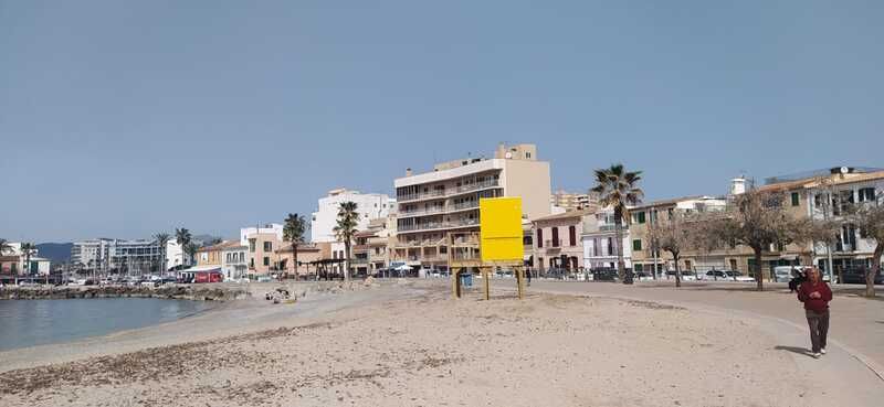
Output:
<svg viewBox="0 0 884 407">
<path fill-rule="evenodd" d="M 518 298 L 525 296 L 525 261 L 522 243 L 522 197 L 488 197 L 478 201 L 481 232 L 449 233 L 449 270 L 452 293 L 461 297 L 463 272 L 478 269 L 485 299 L 491 299 L 491 275 L 495 267 L 514 270 Z"/>
</svg>

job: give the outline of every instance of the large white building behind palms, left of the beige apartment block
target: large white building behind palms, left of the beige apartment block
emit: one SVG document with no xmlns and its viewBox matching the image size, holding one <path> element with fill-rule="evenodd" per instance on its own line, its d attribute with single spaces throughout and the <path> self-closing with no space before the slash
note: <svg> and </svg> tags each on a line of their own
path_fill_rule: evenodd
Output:
<svg viewBox="0 0 884 407">
<path fill-rule="evenodd" d="M 337 225 L 338 208 L 343 202 L 356 203 L 356 212 L 359 213 L 357 231 L 367 229 L 370 221 L 385 218 L 396 211 L 396 200 L 385 194 L 364 194 L 347 189 L 328 191 L 328 196 L 319 199 L 317 210 L 311 218 L 311 240 L 337 240 L 334 229 Z"/>
</svg>

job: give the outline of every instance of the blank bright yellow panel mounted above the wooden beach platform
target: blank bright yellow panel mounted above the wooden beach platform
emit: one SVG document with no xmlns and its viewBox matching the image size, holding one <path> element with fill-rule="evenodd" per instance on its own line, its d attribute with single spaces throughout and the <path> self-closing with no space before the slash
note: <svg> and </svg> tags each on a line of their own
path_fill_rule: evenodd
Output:
<svg viewBox="0 0 884 407">
<path fill-rule="evenodd" d="M 487 197 L 478 201 L 482 261 L 522 264 L 522 197 Z"/>
</svg>

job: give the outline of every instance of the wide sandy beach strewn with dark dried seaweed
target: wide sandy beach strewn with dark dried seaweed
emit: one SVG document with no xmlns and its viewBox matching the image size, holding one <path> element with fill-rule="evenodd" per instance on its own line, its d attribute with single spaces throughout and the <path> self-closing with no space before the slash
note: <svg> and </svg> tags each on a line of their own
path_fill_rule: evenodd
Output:
<svg viewBox="0 0 884 407">
<path fill-rule="evenodd" d="M 864 405 L 751 319 L 496 294 L 455 301 L 444 282 L 393 283 L 7 352 L 0 405 Z"/>
</svg>

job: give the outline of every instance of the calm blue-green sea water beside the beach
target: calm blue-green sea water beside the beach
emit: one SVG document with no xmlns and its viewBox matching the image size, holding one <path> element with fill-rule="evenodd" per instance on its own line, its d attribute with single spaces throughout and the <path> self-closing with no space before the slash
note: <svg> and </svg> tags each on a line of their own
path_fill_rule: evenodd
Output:
<svg viewBox="0 0 884 407">
<path fill-rule="evenodd" d="M 0 351 L 175 321 L 217 306 L 155 298 L 0 301 Z"/>
</svg>

